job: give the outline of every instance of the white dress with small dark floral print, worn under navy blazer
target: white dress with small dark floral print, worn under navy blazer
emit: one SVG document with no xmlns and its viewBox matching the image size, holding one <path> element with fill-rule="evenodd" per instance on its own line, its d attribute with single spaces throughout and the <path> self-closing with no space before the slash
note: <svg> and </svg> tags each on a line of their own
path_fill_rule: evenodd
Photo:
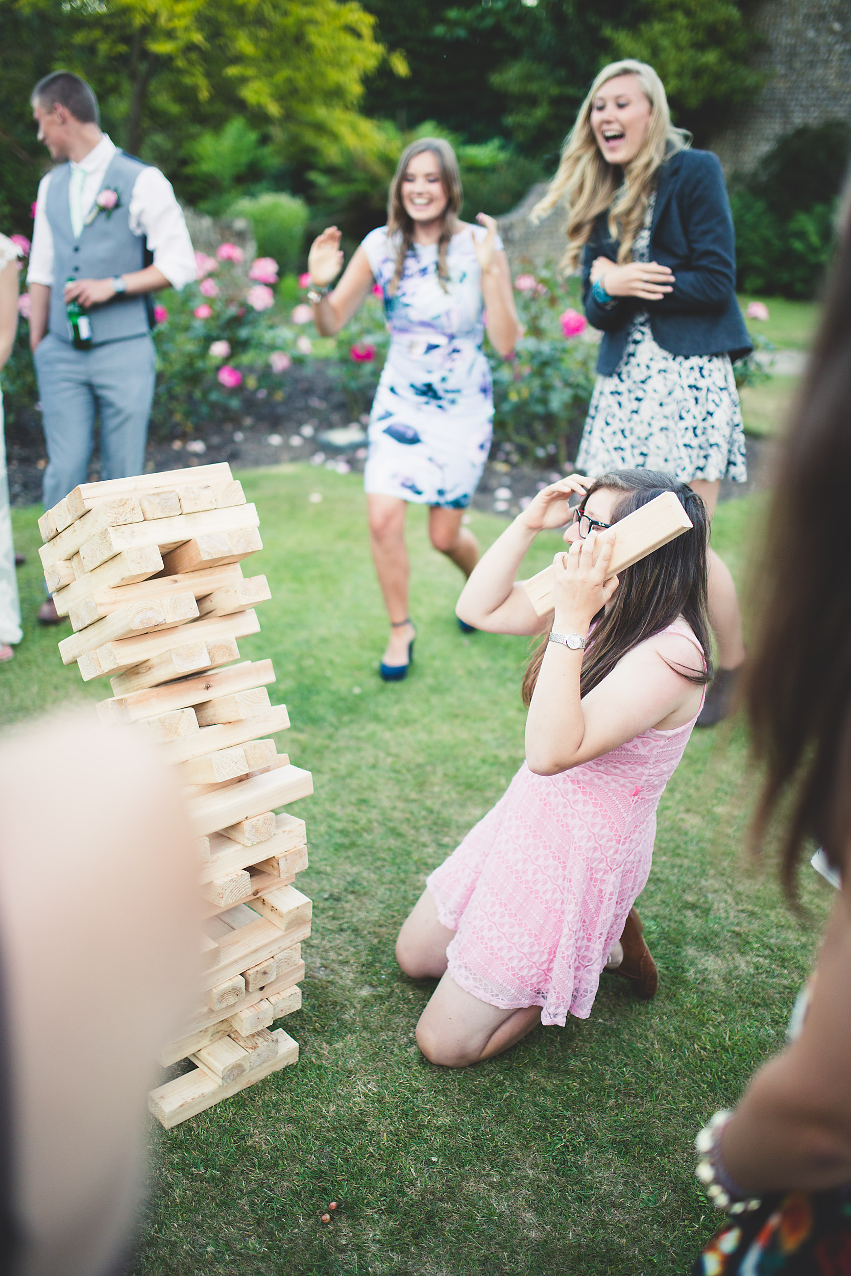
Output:
<svg viewBox="0 0 851 1276">
<path fill-rule="evenodd" d="M 649 260 L 651 197 L 634 262 Z M 579 473 L 663 470 L 679 482 L 746 482 L 745 435 L 729 355 L 671 355 L 637 314 L 611 376 L 598 376 L 577 456 Z"/>
</svg>

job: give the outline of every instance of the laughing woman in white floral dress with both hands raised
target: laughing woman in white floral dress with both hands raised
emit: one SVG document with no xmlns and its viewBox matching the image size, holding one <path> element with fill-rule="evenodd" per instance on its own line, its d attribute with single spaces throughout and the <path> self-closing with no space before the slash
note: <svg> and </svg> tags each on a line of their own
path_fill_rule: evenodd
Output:
<svg viewBox="0 0 851 1276">
<path fill-rule="evenodd" d="M 459 221 L 462 203 L 452 147 L 422 138 L 399 160 L 387 226 L 366 236 L 333 291 L 343 263 L 336 226 L 314 240 L 307 259 L 307 296 L 323 336 L 339 332 L 376 283 L 390 330 L 364 473 L 373 559 L 390 621 L 379 669 L 385 681 L 407 675 L 416 637 L 407 503 L 430 507 L 431 544 L 468 577 L 478 545 L 461 519 L 487 459 L 494 417 L 481 342 L 486 325 L 505 357 L 521 332 L 496 222 L 485 213 L 480 226 Z"/>
</svg>

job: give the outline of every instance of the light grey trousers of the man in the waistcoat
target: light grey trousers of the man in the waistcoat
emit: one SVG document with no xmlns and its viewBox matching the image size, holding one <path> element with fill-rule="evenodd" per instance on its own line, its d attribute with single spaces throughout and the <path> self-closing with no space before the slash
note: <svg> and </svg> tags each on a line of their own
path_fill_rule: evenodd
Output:
<svg viewBox="0 0 851 1276">
<path fill-rule="evenodd" d="M 101 412 L 101 478 L 128 478 L 144 470 L 153 402 L 151 337 L 129 337 L 74 350 L 52 333 L 33 355 L 47 440 L 43 500 L 50 509 L 88 481 L 94 413 Z"/>
</svg>

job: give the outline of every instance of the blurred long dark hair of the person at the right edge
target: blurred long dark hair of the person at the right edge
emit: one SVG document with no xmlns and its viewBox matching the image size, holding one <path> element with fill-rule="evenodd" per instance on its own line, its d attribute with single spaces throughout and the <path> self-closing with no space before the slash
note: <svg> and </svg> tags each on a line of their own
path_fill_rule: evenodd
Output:
<svg viewBox="0 0 851 1276">
<path fill-rule="evenodd" d="M 831 286 L 776 473 L 757 579 L 746 686 L 753 753 L 766 777 L 751 826 L 759 847 L 781 801 L 791 814 L 781 880 L 796 898 L 808 840 L 842 868 L 851 837 L 851 230 Z"/>
</svg>

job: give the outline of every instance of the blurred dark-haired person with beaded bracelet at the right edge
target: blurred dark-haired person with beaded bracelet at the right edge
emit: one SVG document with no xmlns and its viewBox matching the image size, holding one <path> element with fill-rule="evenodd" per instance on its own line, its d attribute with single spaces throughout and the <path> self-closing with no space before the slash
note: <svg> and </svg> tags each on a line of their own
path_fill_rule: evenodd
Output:
<svg viewBox="0 0 851 1276">
<path fill-rule="evenodd" d="M 790 901 L 811 842 L 840 889 L 790 1044 L 698 1136 L 698 1178 L 731 1217 L 694 1276 L 851 1273 L 850 194 L 846 184 L 822 324 L 776 475 L 745 686 L 764 768 L 754 843 L 780 824 Z"/>
</svg>

